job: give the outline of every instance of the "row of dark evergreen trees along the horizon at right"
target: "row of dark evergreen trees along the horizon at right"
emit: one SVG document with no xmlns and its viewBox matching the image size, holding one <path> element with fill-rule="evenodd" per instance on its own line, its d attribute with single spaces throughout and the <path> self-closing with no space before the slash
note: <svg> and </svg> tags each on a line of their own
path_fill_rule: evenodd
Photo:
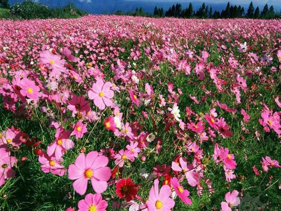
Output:
<svg viewBox="0 0 281 211">
<path fill-rule="evenodd" d="M 182 8 L 181 4 L 172 5 L 165 13 L 163 8 L 158 8 L 155 6 L 153 15 L 144 12 L 142 8 L 136 8 L 135 12 L 123 13 L 122 11 L 117 11 L 115 14 L 118 15 L 133 15 L 133 16 L 153 16 L 153 17 L 179 17 L 179 18 L 280 18 L 281 13 L 275 12 L 274 7 L 271 5 L 270 7 L 266 4 L 263 10 L 260 10 L 259 7 L 254 8 L 253 3 L 249 4 L 247 11 L 245 11 L 244 7 L 231 5 L 228 2 L 225 9 L 221 12 L 214 11 L 212 6 L 206 6 L 203 3 L 200 8 L 195 11 L 193 9 L 192 3 L 185 9 Z"/>
</svg>

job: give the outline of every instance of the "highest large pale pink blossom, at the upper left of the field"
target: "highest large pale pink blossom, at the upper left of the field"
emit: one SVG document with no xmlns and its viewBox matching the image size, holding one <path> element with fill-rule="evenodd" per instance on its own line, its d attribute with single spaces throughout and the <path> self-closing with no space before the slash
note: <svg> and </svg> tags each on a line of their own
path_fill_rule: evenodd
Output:
<svg viewBox="0 0 281 211">
<path fill-rule="evenodd" d="M 60 74 L 61 72 L 66 71 L 63 66 L 65 60 L 61 59 L 58 55 L 52 54 L 49 50 L 45 50 L 40 53 L 39 62 L 48 65 L 51 69 L 53 69 L 55 74 Z"/>
</svg>

